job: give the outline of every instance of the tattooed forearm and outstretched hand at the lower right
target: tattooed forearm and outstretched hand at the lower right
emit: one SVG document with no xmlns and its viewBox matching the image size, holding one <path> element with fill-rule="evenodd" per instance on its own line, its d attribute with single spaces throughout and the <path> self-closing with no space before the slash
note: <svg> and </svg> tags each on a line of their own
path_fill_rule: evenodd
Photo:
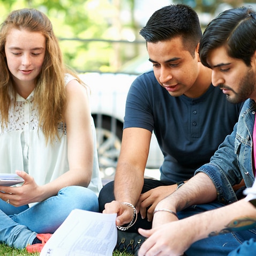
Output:
<svg viewBox="0 0 256 256">
<path fill-rule="evenodd" d="M 183 255 L 200 239 L 255 228 L 255 216 L 256 208 L 243 199 L 151 230 L 139 229 L 148 239 L 141 245 L 138 255 Z"/>
</svg>

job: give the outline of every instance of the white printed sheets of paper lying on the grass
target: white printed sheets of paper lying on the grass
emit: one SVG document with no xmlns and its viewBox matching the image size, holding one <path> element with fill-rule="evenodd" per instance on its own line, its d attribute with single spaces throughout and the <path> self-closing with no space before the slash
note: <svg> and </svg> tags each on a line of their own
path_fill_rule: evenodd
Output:
<svg viewBox="0 0 256 256">
<path fill-rule="evenodd" d="M 116 214 L 75 209 L 44 245 L 40 256 L 112 256 L 116 243 Z"/>
</svg>

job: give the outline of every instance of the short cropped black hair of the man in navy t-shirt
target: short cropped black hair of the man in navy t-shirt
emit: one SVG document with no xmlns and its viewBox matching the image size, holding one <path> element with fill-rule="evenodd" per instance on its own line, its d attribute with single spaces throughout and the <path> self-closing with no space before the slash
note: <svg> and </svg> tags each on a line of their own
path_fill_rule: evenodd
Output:
<svg viewBox="0 0 256 256">
<path fill-rule="evenodd" d="M 194 55 L 202 31 L 198 15 L 190 6 L 171 4 L 155 11 L 140 35 L 152 43 L 181 36 L 184 47 Z"/>
</svg>

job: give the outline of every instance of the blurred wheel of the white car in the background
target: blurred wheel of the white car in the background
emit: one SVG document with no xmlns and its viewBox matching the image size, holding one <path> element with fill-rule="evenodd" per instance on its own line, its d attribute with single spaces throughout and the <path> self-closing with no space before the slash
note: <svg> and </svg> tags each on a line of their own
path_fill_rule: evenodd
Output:
<svg viewBox="0 0 256 256">
<path fill-rule="evenodd" d="M 121 149 L 123 123 L 108 116 L 93 115 L 93 118 L 101 175 L 102 178 L 112 178 Z"/>
</svg>

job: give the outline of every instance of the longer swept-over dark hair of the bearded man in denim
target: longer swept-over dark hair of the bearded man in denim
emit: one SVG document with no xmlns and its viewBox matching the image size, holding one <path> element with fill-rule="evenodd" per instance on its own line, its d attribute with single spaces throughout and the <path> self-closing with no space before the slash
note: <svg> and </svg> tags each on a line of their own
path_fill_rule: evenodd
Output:
<svg viewBox="0 0 256 256">
<path fill-rule="evenodd" d="M 210 21 L 199 46 L 203 65 L 207 63 L 209 52 L 225 46 L 228 55 L 242 59 L 251 66 L 251 57 L 256 50 L 256 13 L 250 6 L 226 10 Z"/>
</svg>

